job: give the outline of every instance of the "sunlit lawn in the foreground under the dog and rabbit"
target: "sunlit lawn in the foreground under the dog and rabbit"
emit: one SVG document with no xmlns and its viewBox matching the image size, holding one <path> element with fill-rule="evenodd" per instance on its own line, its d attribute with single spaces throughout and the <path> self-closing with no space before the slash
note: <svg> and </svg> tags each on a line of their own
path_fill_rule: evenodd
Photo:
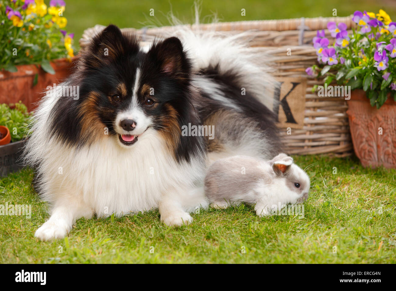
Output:
<svg viewBox="0 0 396 291">
<path fill-rule="evenodd" d="M 308 169 L 313 190 L 303 219 L 259 218 L 244 206 L 200 211 L 191 225 L 168 228 L 150 211 L 80 219 L 67 238 L 47 243 L 33 237 L 47 204 L 24 169 L 0 179 L 0 204 L 32 205 L 30 219 L 0 216 L 0 263 L 395 263 L 396 171 L 365 169 L 356 158 L 295 161 L 318 162 Z"/>
</svg>

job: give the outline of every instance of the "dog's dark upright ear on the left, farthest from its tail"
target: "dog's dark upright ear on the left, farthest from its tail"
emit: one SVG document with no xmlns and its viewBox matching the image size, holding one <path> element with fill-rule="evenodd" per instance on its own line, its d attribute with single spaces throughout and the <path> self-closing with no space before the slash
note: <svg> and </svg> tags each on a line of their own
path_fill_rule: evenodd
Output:
<svg viewBox="0 0 396 291">
<path fill-rule="evenodd" d="M 124 54 L 124 42 L 121 30 L 116 25 L 109 25 L 92 38 L 81 59 L 88 67 L 100 67 Z"/>
</svg>

